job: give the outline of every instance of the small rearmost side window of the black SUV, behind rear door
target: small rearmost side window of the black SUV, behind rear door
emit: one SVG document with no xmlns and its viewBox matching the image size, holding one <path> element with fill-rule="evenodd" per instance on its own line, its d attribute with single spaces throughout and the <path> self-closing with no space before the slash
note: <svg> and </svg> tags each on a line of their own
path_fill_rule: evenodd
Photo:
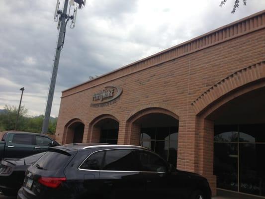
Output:
<svg viewBox="0 0 265 199">
<path fill-rule="evenodd" d="M 92 154 L 80 167 L 80 169 L 100 170 L 104 152 Z"/>
</svg>

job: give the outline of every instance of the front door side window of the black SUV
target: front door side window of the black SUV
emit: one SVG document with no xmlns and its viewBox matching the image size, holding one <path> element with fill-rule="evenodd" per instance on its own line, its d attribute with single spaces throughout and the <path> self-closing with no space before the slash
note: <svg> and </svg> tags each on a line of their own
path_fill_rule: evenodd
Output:
<svg viewBox="0 0 265 199">
<path fill-rule="evenodd" d="M 137 152 L 140 161 L 140 171 L 167 172 L 167 165 L 159 156 L 145 151 Z"/>
</svg>

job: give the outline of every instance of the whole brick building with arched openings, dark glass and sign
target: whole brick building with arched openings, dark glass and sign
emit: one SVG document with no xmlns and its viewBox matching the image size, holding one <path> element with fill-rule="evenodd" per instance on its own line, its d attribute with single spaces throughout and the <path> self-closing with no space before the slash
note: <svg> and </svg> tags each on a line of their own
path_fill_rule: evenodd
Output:
<svg viewBox="0 0 265 199">
<path fill-rule="evenodd" d="M 265 10 L 62 92 L 60 143 L 142 145 L 265 196 Z"/>
</svg>

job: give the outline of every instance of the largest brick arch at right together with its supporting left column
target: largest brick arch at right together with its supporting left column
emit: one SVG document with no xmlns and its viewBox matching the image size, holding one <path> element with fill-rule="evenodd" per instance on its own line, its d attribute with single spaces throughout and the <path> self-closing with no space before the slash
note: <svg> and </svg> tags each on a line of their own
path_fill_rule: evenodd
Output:
<svg viewBox="0 0 265 199">
<path fill-rule="evenodd" d="M 208 179 L 213 196 L 216 195 L 216 176 L 213 175 L 214 121 L 207 116 L 230 100 L 262 87 L 265 87 L 265 61 L 229 75 L 191 103 L 196 114 L 195 172 Z"/>
</svg>

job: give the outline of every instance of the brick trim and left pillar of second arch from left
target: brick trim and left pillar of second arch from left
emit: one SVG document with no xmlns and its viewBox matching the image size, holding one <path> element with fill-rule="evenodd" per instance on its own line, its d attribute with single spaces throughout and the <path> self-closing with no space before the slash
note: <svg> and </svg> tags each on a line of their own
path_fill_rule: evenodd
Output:
<svg viewBox="0 0 265 199">
<path fill-rule="evenodd" d="M 87 137 L 87 142 L 99 142 L 99 138 L 100 138 L 100 128 L 96 127 L 96 124 L 103 120 L 103 119 L 113 119 L 115 121 L 117 121 L 118 123 L 120 122 L 120 120 L 112 115 L 108 113 L 104 113 L 104 114 L 99 114 L 97 116 L 95 116 L 88 125 L 88 137 Z"/>
</svg>

